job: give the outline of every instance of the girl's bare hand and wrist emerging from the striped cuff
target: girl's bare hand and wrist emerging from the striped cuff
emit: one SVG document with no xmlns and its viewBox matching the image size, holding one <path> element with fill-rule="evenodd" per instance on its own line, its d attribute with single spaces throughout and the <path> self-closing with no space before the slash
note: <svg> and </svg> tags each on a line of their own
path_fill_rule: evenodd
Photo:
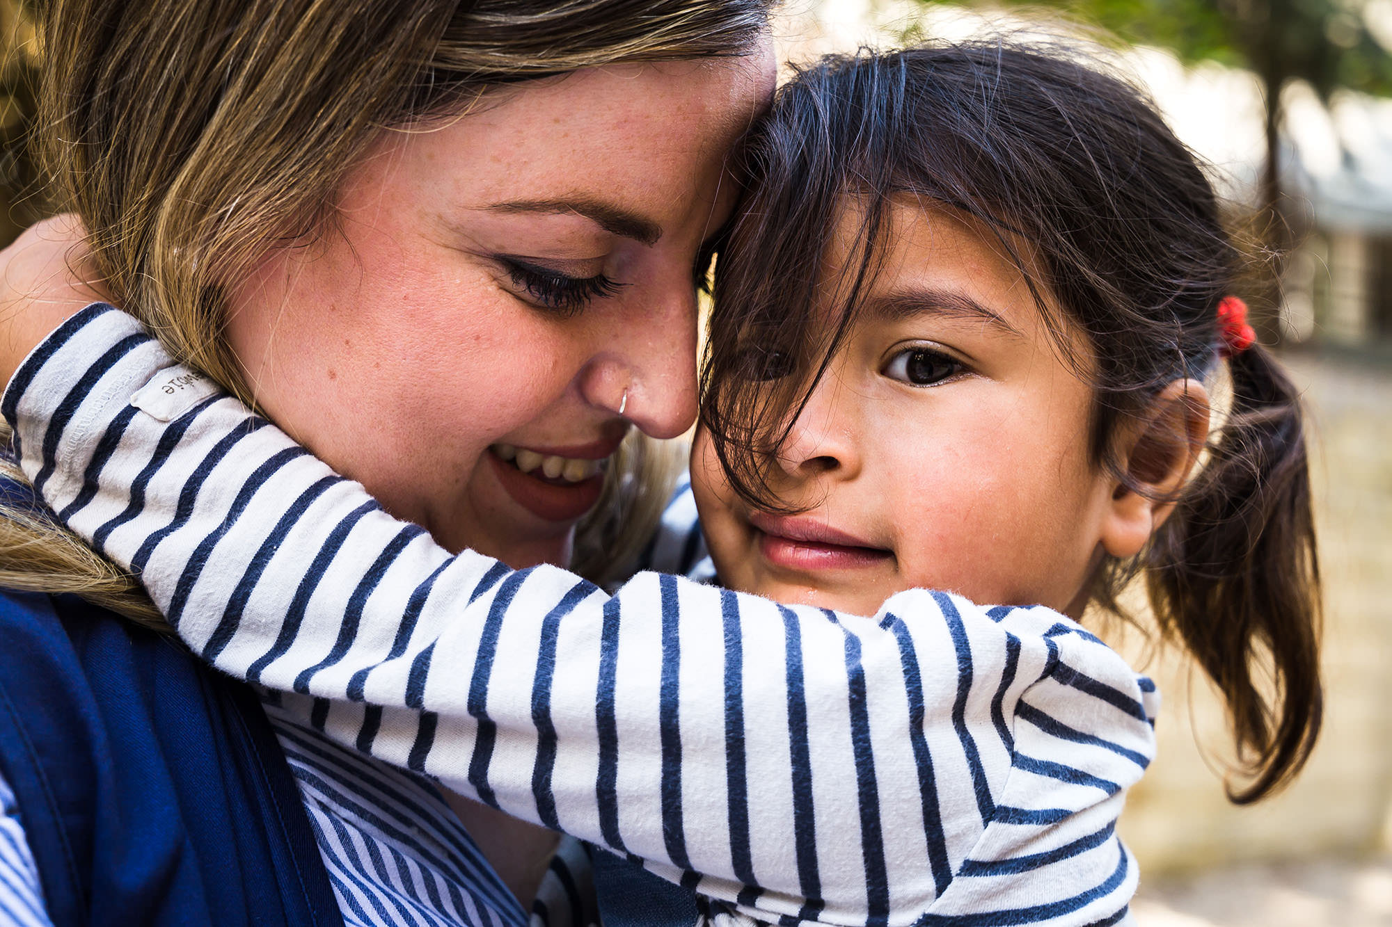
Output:
<svg viewBox="0 0 1392 927">
<path fill-rule="evenodd" d="M 45 219 L 0 251 L 0 383 L 70 316 L 107 299 L 86 230 L 71 213 Z"/>
</svg>

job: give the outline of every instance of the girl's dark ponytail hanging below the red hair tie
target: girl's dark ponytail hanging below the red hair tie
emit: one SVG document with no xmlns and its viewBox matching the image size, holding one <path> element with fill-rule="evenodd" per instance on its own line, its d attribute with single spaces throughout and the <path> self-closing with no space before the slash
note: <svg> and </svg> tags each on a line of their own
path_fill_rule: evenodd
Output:
<svg viewBox="0 0 1392 927">
<path fill-rule="evenodd" d="M 1320 566 L 1295 386 L 1260 345 L 1229 370 L 1231 415 L 1153 541 L 1147 586 L 1228 703 L 1250 775 L 1228 798 L 1244 805 L 1285 785 L 1320 732 Z"/>
</svg>

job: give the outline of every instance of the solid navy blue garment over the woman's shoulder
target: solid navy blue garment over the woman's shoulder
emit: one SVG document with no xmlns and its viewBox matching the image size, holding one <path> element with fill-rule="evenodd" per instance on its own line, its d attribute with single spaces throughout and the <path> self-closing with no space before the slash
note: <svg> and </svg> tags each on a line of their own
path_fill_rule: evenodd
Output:
<svg viewBox="0 0 1392 927">
<path fill-rule="evenodd" d="M 0 777 L 54 921 L 86 898 L 150 924 L 324 923 L 329 877 L 245 683 L 74 596 L 0 590 Z"/>
</svg>

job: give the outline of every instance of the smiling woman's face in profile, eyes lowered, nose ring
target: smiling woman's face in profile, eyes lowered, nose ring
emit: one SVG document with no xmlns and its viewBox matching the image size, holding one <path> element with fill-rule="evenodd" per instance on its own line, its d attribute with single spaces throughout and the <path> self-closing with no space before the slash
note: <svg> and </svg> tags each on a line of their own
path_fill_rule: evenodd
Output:
<svg viewBox="0 0 1392 927">
<path fill-rule="evenodd" d="M 255 395 L 445 547 L 564 561 L 628 427 L 695 418 L 693 264 L 773 85 L 760 47 L 521 84 L 384 132 L 337 227 L 234 294 Z"/>
</svg>

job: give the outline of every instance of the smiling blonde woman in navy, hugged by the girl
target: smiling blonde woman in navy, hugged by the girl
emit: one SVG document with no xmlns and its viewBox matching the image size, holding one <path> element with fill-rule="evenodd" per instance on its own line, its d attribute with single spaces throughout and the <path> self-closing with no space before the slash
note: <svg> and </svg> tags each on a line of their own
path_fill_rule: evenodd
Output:
<svg viewBox="0 0 1392 927">
<path fill-rule="evenodd" d="M 42 124 L 111 296 L 182 359 L 445 546 L 564 562 L 629 425 L 693 419 L 693 269 L 735 196 L 725 154 L 773 89 L 766 15 L 67 0 Z M 561 458 L 558 479 L 518 480 L 503 444 Z M 150 614 L 22 500 L 4 532 L 10 587 Z M 283 718 L 271 734 L 249 690 L 110 612 L 8 604 L 7 639 L 32 647 L 6 665 L 6 743 L 53 740 L 4 764 L 31 920 L 308 923 L 334 898 L 349 923 L 526 921 L 553 834 L 451 802 L 494 874 L 427 784 Z M 53 686 L 65 722 L 36 725 L 25 696 Z M 45 828 L 50 786 L 85 803 Z M 230 838 L 246 820 L 269 837 Z"/>
</svg>

